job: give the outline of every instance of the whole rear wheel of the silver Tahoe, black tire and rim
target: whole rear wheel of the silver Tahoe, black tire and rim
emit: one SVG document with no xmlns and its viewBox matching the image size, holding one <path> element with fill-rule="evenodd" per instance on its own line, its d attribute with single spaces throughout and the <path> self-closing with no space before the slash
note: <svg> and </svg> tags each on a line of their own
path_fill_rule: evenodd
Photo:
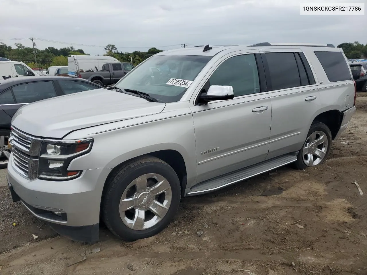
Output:
<svg viewBox="0 0 367 275">
<path fill-rule="evenodd" d="M 324 136 L 323 139 L 322 136 Z M 295 168 L 306 169 L 323 164 L 330 153 L 331 143 L 331 132 L 328 126 L 319 121 L 313 122 L 306 141 L 299 150 L 297 161 L 294 162 Z"/>
</svg>

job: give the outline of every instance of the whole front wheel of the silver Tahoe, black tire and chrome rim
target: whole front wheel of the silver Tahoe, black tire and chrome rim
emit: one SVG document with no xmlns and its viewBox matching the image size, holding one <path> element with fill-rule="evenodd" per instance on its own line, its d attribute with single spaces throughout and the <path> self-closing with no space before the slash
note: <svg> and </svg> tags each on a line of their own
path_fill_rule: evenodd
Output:
<svg viewBox="0 0 367 275">
<path fill-rule="evenodd" d="M 167 190 L 162 191 L 165 188 Z M 124 241 L 149 238 L 167 227 L 180 199 L 181 185 L 175 171 L 161 159 L 146 156 L 109 177 L 102 196 L 102 219 L 108 229 Z"/>
</svg>

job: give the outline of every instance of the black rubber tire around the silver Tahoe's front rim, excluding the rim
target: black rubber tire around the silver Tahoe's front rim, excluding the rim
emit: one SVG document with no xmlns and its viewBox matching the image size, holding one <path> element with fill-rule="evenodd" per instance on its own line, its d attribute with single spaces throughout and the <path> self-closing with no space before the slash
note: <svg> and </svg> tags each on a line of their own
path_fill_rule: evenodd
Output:
<svg viewBox="0 0 367 275">
<path fill-rule="evenodd" d="M 164 216 L 159 223 L 145 230 L 133 230 L 127 227 L 127 225 L 125 225 L 121 220 L 119 212 L 120 199 L 126 187 L 133 180 L 148 173 L 159 174 L 168 180 L 172 190 L 172 201 L 166 216 Z M 136 167 L 134 170 L 122 175 L 121 173 L 117 173 L 115 179 L 118 181 L 118 184 L 113 191 L 113 194 L 110 195 L 109 201 L 104 203 L 103 213 L 108 213 L 109 224 L 111 225 L 112 230 L 115 231 L 116 235 L 120 236 L 122 239 L 134 241 L 136 239 L 155 235 L 170 223 L 177 211 L 181 199 L 180 183 L 176 173 L 172 168 L 170 168 L 170 166 L 161 162 L 144 163 L 139 167 Z"/>
</svg>

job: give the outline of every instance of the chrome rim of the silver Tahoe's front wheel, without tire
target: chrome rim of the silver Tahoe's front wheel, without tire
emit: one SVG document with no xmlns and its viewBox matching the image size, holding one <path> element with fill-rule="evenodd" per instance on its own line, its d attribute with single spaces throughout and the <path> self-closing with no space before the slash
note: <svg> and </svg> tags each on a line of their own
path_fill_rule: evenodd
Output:
<svg viewBox="0 0 367 275">
<path fill-rule="evenodd" d="M 142 175 L 121 196 L 121 220 L 133 230 L 148 229 L 163 219 L 171 201 L 172 190 L 166 178 L 155 173 Z"/>
</svg>

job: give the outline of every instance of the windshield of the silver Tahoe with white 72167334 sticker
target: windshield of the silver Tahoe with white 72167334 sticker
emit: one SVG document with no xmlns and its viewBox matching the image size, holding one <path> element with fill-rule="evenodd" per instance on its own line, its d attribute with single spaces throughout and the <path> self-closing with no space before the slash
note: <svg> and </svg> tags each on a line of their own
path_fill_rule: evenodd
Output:
<svg viewBox="0 0 367 275">
<path fill-rule="evenodd" d="M 211 56 L 158 55 L 134 68 L 115 85 L 144 92 L 159 102 L 179 101 Z"/>
</svg>

